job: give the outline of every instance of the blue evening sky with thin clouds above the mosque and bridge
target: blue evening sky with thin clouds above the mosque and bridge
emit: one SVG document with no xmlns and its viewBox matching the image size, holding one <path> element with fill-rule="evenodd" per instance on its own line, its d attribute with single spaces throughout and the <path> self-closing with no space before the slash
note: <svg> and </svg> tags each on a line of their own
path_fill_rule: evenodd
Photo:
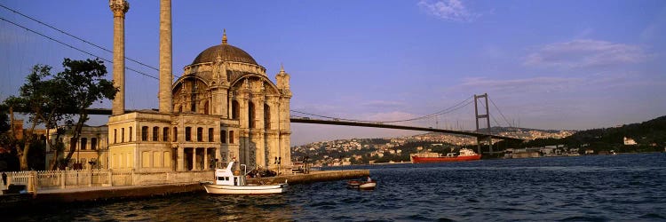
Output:
<svg viewBox="0 0 666 222">
<path fill-rule="evenodd" d="M 158 67 L 159 1 L 129 2 L 125 55 Z M 18 93 L 33 65 L 58 71 L 63 58 L 92 58 L 84 52 L 112 59 L 110 52 L 7 9 L 112 49 L 107 1 L 0 4 L 0 99 Z M 493 126 L 585 130 L 666 115 L 662 0 L 175 0 L 172 13 L 175 75 L 221 44 L 226 28 L 228 43 L 250 53 L 272 80 L 283 65 L 291 76 L 290 106 L 298 112 L 404 120 L 488 93 Z M 113 66 L 106 64 L 110 78 Z M 126 67 L 158 75 L 132 61 Z M 126 71 L 127 108 L 158 107 L 158 82 L 146 75 Z M 106 121 L 98 116 L 91 124 Z M 473 130 L 473 103 L 400 124 Z M 305 123 L 291 128 L 292 145 L 423 133 Z"/>
</svg>

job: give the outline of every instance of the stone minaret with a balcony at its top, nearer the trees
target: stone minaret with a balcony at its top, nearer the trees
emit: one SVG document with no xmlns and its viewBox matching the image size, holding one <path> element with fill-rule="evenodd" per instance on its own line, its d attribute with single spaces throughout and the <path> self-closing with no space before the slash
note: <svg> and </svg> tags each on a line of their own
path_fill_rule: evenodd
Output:
<svg viewBox="0 0 666 222">
<path fill-rule="evenodd" d="M 125 113 L 125 13 L 130 4 L 125 0 L 109 0 L 108 6 L 114 12 L 114 86 L 115 94 L 111 115 Z"/>
</svg>

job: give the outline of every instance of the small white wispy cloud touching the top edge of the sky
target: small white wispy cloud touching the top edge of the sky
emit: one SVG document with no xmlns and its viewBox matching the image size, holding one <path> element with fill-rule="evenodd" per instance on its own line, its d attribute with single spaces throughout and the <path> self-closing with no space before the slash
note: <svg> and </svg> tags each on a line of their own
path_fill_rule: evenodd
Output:
<svg viewBox="0 0 666 222">
<path fill-rule="evenodd" d="M 479 14 L 467 10 L 460 0 L 421 0 L 417 4 L 428 14 L 443 20 L 472 21 Z"/>
</svg>

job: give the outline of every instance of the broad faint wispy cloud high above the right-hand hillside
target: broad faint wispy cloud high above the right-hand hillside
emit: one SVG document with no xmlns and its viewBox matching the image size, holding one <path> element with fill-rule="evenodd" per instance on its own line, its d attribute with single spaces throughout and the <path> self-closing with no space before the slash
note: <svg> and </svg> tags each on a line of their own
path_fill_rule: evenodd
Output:
<svg viewBox="0 0 666 222">
<path fill-rule="evenodd" d="M 582 39 L 546 44 L 527 55 L 523 64 L 535 67 L 599 67 L 638 63 L 646 59 L 647 53 L 638 45 Z"/>
</svg>

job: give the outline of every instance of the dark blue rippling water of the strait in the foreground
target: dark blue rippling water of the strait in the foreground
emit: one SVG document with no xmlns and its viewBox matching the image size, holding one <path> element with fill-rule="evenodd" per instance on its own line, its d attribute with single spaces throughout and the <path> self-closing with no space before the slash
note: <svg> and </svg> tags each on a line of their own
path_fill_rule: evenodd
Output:
<svg viewBox="0 0 666 222">
<path fill-rule="evenodd" d="M 376 190 L 351 190 L 345 188 L 345 181 L 333 181 L 289 186 L 286 194 L 180 194 L 43 207 L 14 212 L 9 218 L 46 221 L 666 221 L 666 154 L 407 163 L 359 168 L 369 169 L 370 175 L 378 180 Z"/>
</svg>

